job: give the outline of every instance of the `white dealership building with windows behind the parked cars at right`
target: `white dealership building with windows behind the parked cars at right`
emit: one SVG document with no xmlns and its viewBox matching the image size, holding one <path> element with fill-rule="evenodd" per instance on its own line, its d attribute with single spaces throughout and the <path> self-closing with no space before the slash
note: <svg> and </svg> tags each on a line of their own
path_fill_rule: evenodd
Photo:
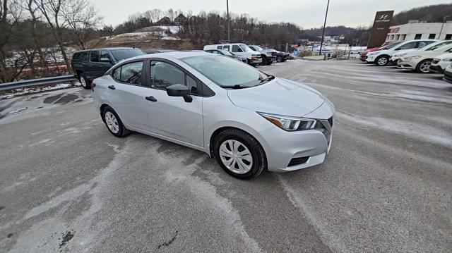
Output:
<svg viewBox="0 0 452 253">
<path fill-rule="evenodd" d="M 412 20 L 405 25 L 389 27 L 386 41 L 410 39 L 452 39 L 452 22 L 419 23 L 417 20 Z"/>
</svg>

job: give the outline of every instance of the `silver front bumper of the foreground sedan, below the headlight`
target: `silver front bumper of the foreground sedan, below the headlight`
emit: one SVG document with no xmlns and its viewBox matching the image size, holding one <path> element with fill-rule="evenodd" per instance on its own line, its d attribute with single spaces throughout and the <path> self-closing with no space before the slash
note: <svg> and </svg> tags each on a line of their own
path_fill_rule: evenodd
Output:
<svg viewBox="0 0 452 253">
<path fill-rule="evenodd" d="M 320 109 L 323 112 L 333 111 L 327 103 L 321 107 L 328 107 Z M 261 132 L 267 144 L 268 171 L 297 171 L 323 163 L 331 149 L 333 113 L 328 120 L 318 121 L 319 127 L 312 130 L 289 132 L 274 127 Z"/>
</svg>

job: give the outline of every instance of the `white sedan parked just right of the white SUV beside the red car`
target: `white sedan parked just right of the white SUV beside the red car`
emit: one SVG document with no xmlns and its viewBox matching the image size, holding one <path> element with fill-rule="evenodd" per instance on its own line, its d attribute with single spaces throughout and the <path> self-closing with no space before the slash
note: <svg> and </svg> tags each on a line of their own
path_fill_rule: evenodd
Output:
<svg viewBox="0 0 452 253">
<path fill-rule="evenodd" d="M 419 73 L 429 73 L 432 60 L 436 58 L 436 56 L 451 52 L 452 41 L 451 43 L 446 44 L 446 46 L 439 47 L 434 50 L 427 49 L 427 51 L 422 51 L 420 49 L 417 51 L 412 51 L 409 54 L 403 56 L 403 58 L 400 58 L 397 63 L 397 68 L 416 70 Z"/>
</svg>

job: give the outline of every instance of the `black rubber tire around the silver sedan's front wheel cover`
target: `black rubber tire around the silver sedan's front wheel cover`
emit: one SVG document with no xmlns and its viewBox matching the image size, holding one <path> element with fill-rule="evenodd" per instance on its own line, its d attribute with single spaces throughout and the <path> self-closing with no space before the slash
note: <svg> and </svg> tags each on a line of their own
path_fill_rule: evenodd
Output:
<svg viewBox="0 0 452 253">
<path fill-rule="evenodd" d="M 246 173 L 235 173 L 225 166 L 220 157 L 220 145 L 227 140 L 237 140 L 241 142 L 251 154 L 252 165 L 251 169 Z M 266 154 L 261 147 L 261 144 L 249 135 L 248 133 L 238 130 L 238 129 L 227 129 L 218 134 L 214 142 L 213 155 L 217 159 L 218 164 L 221 168 L 225 170 L 228 174 L 232 175 L 234 178 L 239 178 L 243 180 L 249 180 L 258 177 L 261 172 L 267 168 Z M 235 166 L 235 163 L 234 163 Z M 238 165 L 237 165 L 238 166 Z"/>
</svg>

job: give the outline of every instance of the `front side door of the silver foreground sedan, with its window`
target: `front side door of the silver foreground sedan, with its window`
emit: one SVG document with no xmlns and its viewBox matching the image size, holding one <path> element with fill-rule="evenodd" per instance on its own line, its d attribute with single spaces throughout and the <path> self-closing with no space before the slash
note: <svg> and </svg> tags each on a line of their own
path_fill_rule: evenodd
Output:
<svg viewBox="0 0 452 253">
<path fill-rule="evenodd" d="M 166 87 L 186 85 L 193 101 L 169 97 Z M 156 101 L 148 106 L 148 121 L 152 132 L 179 142 L 203 147 L 203 97 L 201 83 L 177 66 L 165 61 L 150 62 L 150 93 Z"/>
</svg>

